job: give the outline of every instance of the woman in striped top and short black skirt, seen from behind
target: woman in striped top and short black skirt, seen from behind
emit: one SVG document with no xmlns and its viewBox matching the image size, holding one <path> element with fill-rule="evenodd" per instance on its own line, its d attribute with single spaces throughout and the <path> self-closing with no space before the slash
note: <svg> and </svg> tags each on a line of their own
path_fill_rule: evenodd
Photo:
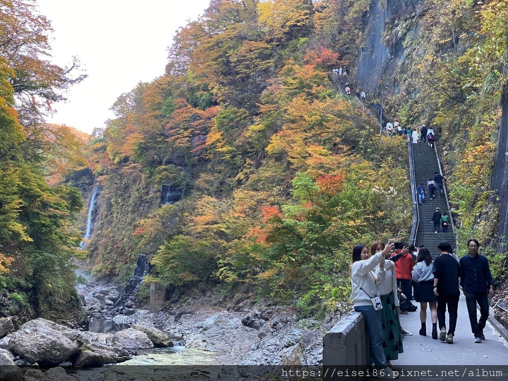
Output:
<svg viewBox="0 0 508 381">
<path fill-rule="evenodd" d="M 412 280 L 418 282 L 416 301 L 420 302 L 420 322 L 422 322 L 420 335 L 427 336 L 427 303 L 429 303 L 432 338 L 437 339 L 437 299 L 433 290 L 434 274 L 432 274 L 432 256 L 429 249 L 422 247 L 416 261 L 417 264 L 412 271 Z"/>
</svg>

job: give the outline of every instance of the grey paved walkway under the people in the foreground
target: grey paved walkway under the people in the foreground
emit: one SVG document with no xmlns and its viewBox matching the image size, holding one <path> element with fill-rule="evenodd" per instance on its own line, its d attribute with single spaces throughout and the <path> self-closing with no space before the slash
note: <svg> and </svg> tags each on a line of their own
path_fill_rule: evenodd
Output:
<svg viewBox="0 0 508 381">
<path fill-rule="evenodd" d="M 471 333 L 469 317 L 467 315 L 466 299 L 461 294 L 459 301 L 457 329 L 455 330 L 454 343 L 447 344 L 432 339 L 432 322 L 430 311 L 427 306 L 427 336 L 420 336 L 418 331 L 420 324 L 420 303 L 416 312 L 408 312 L 400 315 L 400 324 L 412 336 L 405 336 L 403 345 L 404 353 L 399 359 L 392 361 L 395 366 L 399 365 L 507 365 L 508 342 L 487 322 L 484 334 L 486 340 L 481 344 L 473 343 L 474 336 Z M 448 325 L 448 312 L 446 314 Z M 480 311 L 478 312 L 480 318 Z M 439 333 L 439 327 L 437 328 Z"/>
</svg>

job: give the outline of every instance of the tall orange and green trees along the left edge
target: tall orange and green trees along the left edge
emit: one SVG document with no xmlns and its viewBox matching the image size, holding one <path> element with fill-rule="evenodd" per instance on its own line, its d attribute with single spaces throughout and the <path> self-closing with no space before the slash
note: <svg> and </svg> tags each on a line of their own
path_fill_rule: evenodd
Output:
<svg viewBox="0 0 508 381">
<path fill-rule="evenodd" d="M 84 142 L 48 125 L 51 104 L 83 79 L 78 62 L 52 65 L 51 27 L 31 1 L 0 1 L 0 316 L 79 321 L 69 260 L 81 194 L 59 179 L 85 166 Z M 52 184 L 52 186 L 50 186 Z"/>
</svg>

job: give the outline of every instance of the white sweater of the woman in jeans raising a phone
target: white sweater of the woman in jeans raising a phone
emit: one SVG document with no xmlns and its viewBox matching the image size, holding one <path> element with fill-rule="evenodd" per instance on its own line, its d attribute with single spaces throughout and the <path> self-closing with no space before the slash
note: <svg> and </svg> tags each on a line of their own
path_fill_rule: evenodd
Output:
<svg viewBox="0 0 508 381">
<path fill-rule="evenodd" d="M 386 271 L 384 268 L 379 268 L 376 273 L 372 270 L 377 267 L 382 259 L 383 254 L 378 252 L 369 259 L 356 261 L 351 266 L 351 285 L 353 286 L 351 303 L 354 306 L 371 306 L 370 298 L 380 295 L 376 282 L 385 281 Z M 376 278 L 376 281 L 374 281 L 374 278 Z"/>
</svg>

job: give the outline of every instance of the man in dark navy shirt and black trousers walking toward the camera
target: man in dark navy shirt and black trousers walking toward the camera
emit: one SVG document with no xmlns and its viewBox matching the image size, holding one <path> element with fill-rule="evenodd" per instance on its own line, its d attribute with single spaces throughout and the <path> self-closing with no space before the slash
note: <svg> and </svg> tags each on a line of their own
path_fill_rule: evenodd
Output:
<svg viewBox="0 0 508 381">
<path fill-rule="evenodd" d="M 474 238 L 467 241 L 469 255 L 460 259 L 460 287 L 466 297 L 469 323 L 474 342 L 485 340 L 483 330 L 489 317 L 489 296 L 494 296 L 489 260 L 478 253 L 480 244 Z M 480 306 L 480 322 L 477 319 L 477 303 Z"/>
</svg>

